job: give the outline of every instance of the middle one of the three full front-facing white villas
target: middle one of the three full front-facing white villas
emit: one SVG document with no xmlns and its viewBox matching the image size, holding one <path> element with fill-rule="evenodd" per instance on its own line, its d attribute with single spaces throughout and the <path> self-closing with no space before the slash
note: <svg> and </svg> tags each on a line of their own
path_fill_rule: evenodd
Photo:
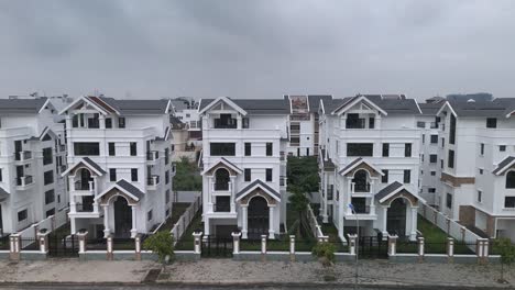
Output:
<svg viewBox="0 0 515 290">
<path fill-rule="evenodd" d="M 274 238 L 285 222 L 286 99 L 201 100 L 206 235 Z"/>
</svg>

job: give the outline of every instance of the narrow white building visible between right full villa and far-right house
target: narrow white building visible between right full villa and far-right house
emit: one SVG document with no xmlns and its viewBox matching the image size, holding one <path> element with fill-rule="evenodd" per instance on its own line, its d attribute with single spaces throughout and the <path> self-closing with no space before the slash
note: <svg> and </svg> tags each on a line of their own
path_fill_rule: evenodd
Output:
<svg viewBox="0 0 515 290">
<path fill-rule="evenodd" d="M 419 194 L 426 202 L 435 208 L 440 204 L 440 175 L 439 150 L 441 142 L 438 136 L 437 112 L 443 102 L 419 103 L 421 114 L 416 115 L 417 127 L 420 129 L 420 183 Z"/>
</svg>

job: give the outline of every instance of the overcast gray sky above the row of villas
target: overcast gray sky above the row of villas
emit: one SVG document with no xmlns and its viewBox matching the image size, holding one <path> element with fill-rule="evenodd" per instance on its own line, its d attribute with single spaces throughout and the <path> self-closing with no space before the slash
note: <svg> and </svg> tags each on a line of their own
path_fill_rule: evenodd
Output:
<svg viewBox="0 0 515 290">
<path fill-rule="evenodd" d="M 515 97 L 513 0 L 0 0 L 0 96 Z"/>
</svg>

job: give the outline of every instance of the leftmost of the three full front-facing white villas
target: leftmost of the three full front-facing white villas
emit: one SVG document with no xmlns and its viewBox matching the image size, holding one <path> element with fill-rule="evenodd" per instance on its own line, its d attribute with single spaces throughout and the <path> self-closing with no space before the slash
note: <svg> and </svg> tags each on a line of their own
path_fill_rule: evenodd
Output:
<svg viewBox="0 0 515 290">
<path fill-rule="evenodd" d="M 72 234 L 149 233 L 171 214 L 169 100 L 81 97 L 66 116 Z"/>
</svg>

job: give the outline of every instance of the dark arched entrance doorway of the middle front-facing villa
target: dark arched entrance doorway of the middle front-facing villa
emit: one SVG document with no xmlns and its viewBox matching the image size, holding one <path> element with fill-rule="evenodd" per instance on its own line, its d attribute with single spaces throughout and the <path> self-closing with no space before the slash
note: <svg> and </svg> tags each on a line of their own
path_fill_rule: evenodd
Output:
<svg viewBox="0 0 515 290">
<path fill-rule="evenodd" d="M 269 234 L 269 203 L 263 197 L 249 202 L 249 238 L 261 238 Z"/>
</svg>

